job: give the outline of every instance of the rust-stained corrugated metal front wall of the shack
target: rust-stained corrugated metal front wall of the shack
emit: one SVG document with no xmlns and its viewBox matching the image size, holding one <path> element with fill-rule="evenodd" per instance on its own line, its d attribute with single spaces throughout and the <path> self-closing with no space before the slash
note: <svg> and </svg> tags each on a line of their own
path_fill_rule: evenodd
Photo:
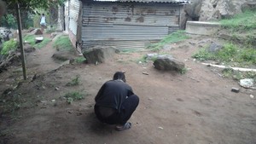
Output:
<svg viewBox="0 0 256 144">
<path fill-rule="evenodd" d="M 83 4 L 82 49 L 102 44 L 141 49 L 179 28 L 180 5 L 173 3 Z"/>
</svg>

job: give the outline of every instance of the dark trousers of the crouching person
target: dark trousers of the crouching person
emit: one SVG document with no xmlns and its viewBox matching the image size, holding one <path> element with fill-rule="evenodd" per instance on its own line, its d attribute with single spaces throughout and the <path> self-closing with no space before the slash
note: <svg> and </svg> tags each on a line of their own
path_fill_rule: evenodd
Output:
<svg viewBox="0 0 256 144">
<path fill-rule="evenodd" d="M 96 117 L 102 122 L 107 124 L 125 124 L 130 118 L 131 114 L 136 110 L 139 103 L 137 95 L 131 95 L 122 104 L 121 112 L 117 110 L 113 112 L 108 118 L 102 117 L 99 107 L 95 106 L 94 110 Z"/>
</svg>

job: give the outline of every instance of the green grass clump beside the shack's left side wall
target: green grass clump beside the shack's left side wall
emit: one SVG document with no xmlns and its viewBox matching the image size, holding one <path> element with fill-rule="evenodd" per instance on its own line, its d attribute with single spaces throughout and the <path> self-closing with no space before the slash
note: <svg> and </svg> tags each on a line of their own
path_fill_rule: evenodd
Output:
<svg viewBox="0 0 256 144">
<path fill-rule="evenodd" d="M 73 51 L 73 45 L 68 36 L 58 37 L 53 43 L 53 47 L 58 50 Z"/>
</svg>

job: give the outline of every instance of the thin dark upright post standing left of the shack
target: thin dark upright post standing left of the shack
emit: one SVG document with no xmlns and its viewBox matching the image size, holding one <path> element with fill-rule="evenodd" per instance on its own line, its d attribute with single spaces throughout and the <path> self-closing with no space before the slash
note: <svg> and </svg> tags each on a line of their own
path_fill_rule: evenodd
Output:
<svg viewBox="0 0 256 144">
<path fill-rule="evenodd" d="M 23 49 L 23 40 L 22 40 L 22 33 L 21 33 L 21 20 L 20 20 L 20 5 L 17 3 L 17 23 L 19 29 L 19 39 L 20 39 L 20 54 L 21 54 L 21 62 L 22 62 L 22 71 L 23 71 L 23 78 L 26 80 L 26 61 Z"/>
</svg>

